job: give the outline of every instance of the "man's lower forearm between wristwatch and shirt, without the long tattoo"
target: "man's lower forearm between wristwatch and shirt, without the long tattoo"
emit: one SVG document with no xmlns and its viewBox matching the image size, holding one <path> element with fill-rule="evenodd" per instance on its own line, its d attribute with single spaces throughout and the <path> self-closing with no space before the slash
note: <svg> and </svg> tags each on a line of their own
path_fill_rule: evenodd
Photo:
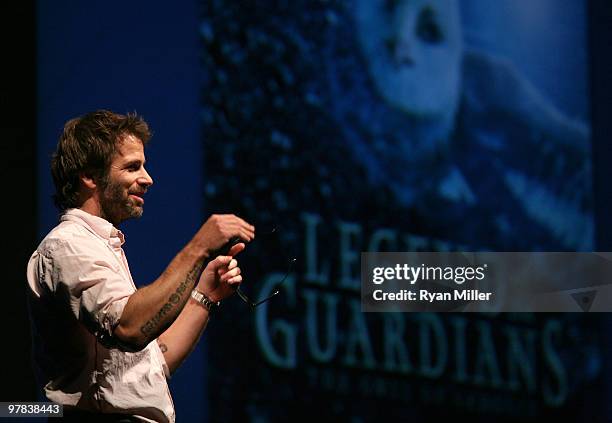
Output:
<svg viewBox="0 0 612 423">
<path fill-rule="evenodd" d="M 189 300 L 174 323 L 157 339 L 170 373 L 174 373 L 193 351 L 206 329 L 208 317 L 204 307 Z"/>
</svg>

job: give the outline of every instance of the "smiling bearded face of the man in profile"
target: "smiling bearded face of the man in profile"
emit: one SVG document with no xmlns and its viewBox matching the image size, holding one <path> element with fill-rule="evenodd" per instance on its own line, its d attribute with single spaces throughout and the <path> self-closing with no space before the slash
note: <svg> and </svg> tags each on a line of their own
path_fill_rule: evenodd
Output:
<svg viewBox="0 0 612 423">
<path fill-rule="evenodd" d="M 133 135 L 117 145 L 106 183 L 101 185 L 100 208 L 106 220 L 115 226 L 143 213 L 143 196 L 153 180 L 144 168 L 142 142 Z"/>
</svg>

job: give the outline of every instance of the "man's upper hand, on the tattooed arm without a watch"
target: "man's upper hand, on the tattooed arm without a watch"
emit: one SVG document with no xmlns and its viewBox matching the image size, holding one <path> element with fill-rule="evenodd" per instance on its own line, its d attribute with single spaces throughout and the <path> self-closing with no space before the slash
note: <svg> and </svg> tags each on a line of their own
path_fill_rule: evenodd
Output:
<svg viewBox="0 0 612 423">
<path fill-rule="evenodd" d="M 192 243 L 203 251 L 206 257 L 210 257 L 233 238 L 252 241 L 255 238 L 255 227 L 233 214 L 213 214 L 202 225 Z"/>
</svg>

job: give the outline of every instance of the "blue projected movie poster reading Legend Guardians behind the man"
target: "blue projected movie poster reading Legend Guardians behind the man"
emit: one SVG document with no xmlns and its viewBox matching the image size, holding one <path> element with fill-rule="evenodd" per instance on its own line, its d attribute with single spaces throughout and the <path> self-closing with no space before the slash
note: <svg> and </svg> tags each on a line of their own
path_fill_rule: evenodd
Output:
<svg viewBox="0 0 612 423">
<path fill-rule="evenodd" d="M 360 309 L 362 251 L 593 248 L 586 6 L 492 3 L 202 1 L 205 204 L 257 227 L 245 295 L 279 289 L 209 329 L 214 421 L 532 421 L 597 386 L 595 320 Z"/>
</svg>

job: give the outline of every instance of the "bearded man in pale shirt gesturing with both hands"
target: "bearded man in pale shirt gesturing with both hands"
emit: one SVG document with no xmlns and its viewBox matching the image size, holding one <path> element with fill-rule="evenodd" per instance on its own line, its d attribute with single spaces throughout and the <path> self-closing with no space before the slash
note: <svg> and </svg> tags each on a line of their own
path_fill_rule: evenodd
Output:
<svg viewBox="0 0 612 423">
<path fill-rule="evenodd" d="M 255 235 L 234 215 L 213 215 L 137 289 L 117 226 L 143 213 L 149 138 L 139 116 L 96 111 L 66 123 L 52 159 L 62 215 L 28 263 L 29 304 L 45 394 L 75 421 L 175 420 L 166 378 L 242 281 L 233 256 L 243 242 L 215 255 Z"/>
</svg>

